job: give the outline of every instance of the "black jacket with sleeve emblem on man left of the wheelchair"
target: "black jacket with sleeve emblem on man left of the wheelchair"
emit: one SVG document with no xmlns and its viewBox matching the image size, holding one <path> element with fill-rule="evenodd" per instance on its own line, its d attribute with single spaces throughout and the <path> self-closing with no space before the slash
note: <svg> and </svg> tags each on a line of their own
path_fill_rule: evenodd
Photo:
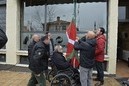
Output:
<svg viewBox="0 0 129 86">
<path fill-rule="evenodd" d="M 39 74 L 48 69 L 48 51 L 46 44 L 42 41 L 37 42 L 32 50 L 29 68 L 34 73 Z"/>
</svg>

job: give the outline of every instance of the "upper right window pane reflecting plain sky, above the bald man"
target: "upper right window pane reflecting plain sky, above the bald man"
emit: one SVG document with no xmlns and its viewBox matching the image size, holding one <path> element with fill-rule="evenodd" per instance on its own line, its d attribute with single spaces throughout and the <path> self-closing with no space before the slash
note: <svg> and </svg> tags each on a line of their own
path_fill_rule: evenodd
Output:
<svg viewBox="0 0 129 86">
<path fill-rule="evenodd" d="M 79 31 L 107 28 L 107 3 L 80 3 L 77 6 L 77 26 Z"/>
</svg>

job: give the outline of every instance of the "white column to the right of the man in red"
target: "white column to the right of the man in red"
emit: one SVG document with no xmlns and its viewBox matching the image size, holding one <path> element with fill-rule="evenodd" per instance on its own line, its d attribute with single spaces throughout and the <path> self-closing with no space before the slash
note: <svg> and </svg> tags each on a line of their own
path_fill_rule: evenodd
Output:
<svg viewBox="0 0 129 86">
<path fill-rule="evenodd" d="M 108 14 L 108 73 L 116 74 L 118 0 L 109 0 Z"/>
</svg>

